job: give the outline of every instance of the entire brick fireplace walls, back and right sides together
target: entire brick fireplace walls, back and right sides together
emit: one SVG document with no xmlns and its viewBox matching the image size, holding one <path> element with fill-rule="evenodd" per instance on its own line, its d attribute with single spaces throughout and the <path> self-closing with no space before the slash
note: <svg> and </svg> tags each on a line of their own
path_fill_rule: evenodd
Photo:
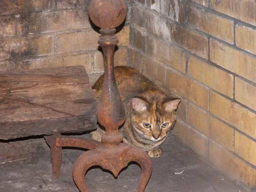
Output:
<svg viewBox="0 0 256 192">
<path fill-rule="evenodd" d="M 174 128 L 179 139 L 255 187 L 255 1 L 127 4 L 115 65 L 132 65 L 169 86 L 182 98 Z M 94 81 L 103 71 L 102 54 L 87 9 L 87 0 L 0 1 L 0 71 L 83 65 Z"/>
</svg>

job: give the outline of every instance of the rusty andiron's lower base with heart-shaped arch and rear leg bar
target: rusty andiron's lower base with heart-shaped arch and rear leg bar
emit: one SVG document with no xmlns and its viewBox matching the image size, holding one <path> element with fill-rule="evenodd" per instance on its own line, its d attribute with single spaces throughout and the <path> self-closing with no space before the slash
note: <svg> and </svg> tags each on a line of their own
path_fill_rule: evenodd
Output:
<svg viewBox="0 0 256 192">
<path fill-rule="evenodd" d="M 142 149 L 125 143 L 104 145 L 101 142 L 62 136 L 54 134 L 45 136 L 46 142 L 51 148 L 53 176 L 60 176 L 62 159 L 62 147 L 78 147 L 90 149 L 82 153 L 73 166 L 73 179 L 81 192 L 88 192 L 85 183 L 85 173 L 94 166 L 99 165 L 118 176 L 120 170 L 130 162 L 137 162 L 142 169 L 141 178 L 137 191 L 143 192 L 152 173 L 152 161 L 149 155 Z"/>
</svg>

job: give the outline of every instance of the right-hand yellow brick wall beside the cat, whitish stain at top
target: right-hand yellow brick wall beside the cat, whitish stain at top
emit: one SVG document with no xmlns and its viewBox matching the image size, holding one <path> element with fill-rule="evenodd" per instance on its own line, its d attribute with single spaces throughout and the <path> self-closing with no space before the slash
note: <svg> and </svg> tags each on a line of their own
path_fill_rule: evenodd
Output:
<svg viewBox="0 0 256 192">
<path fill-rule="evenodd" d="M 256 2 L 137 0 L 131 65 L 182 98 L 175 134 L 256 187 Z"/>
</svg>

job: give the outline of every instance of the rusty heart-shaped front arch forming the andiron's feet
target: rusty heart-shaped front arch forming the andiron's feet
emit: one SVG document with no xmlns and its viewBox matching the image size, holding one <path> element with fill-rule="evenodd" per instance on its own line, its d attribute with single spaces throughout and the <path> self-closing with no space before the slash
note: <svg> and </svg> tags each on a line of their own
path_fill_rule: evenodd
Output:
<svg viewBox="0 0 256 192">
<path fill-rule="evenodd" d="M 84 174 L 94 165 L 110 170 L 117 177 L 120 170 L 135 161 L 142 168 L 142 175 L 137 191 L 143 192 L 152 172 L 151 159 L 148 154 L 135 146 L 119 143 L 115 146 L 103 146 L 84 152 L 74 164 L 73 178 L 80 191 L 88 191 Z"/>
</svg>

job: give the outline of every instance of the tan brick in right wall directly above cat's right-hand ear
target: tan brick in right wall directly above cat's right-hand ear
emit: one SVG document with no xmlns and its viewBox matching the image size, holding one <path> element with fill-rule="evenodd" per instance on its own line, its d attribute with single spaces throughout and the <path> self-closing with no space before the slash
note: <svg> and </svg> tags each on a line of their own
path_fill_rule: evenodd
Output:
<svg viewBox="0 0 256 192">
<path fill-rule="evenodd" d="M 175 73 L 169 69 L 166 71 L 167 85 L 174 93 L 184 96 L 191 102 L 208 110 L 208 90 L 201 84 L 188 79 L 183 75 Z"/>
</svg>

